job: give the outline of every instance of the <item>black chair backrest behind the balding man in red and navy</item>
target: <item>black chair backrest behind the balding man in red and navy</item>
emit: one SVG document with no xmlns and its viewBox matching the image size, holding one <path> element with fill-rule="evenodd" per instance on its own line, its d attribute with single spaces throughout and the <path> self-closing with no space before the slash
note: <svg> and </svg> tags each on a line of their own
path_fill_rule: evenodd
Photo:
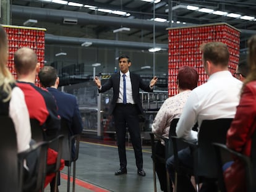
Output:
<svg viewBox="0 0 256 192">
<path fill-rule="evenodd" d="M 45 140 L 45 133 L 40 125 L 40 122 L 36 119 L 30 119 L 32 139 L 36 142 Z"/>
</svg>

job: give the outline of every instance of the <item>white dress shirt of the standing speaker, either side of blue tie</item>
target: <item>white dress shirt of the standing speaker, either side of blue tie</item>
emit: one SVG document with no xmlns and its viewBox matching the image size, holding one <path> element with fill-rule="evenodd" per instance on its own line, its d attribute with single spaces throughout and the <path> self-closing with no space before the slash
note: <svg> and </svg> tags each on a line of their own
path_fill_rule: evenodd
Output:
<svg viewBox="0 0 256 192">
<path fill-rule="evenodd" d="M 119 96 L 117 99 L 117 103 L 122 103 L 122 99 L 124 96 L 124 80 L 123 80 L 123 75 L 120 71 L 120 85 L 119 85 Z M 126 101 L 127 103 L 134 104 L 134 99 L 132 98 L 132 83 L 130 81 L 130 71 L 125 73 L 126 75 Z"/>
</svg>

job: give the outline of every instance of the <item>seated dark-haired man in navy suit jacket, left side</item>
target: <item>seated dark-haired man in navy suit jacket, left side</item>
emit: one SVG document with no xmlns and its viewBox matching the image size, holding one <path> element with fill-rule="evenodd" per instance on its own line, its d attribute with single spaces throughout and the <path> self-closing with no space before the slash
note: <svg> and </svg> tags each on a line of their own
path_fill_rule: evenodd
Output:
<svg viewBox="0 0 256 192">
<path fill-rule="evenodd" d="M 79 112 L 77 98 L 72 94 L 58 90 L 59 77 L 56 69 L 51 66 L 45 66 L 38 73 L 38 77 L 41 85 L 46 88 L 49 93 L 53 94 L 56 99 L 58 114 L 61 116 L 61 119 L 67 120 L 69 124 L 69 136 L 82 133 L 82 118 Z M 74 156 L 74 152 L 75 146 L 72 148 L 72 156 Z M 54 182 L 50 184 L 51 188 L 53 188 Z"/>
</svg>

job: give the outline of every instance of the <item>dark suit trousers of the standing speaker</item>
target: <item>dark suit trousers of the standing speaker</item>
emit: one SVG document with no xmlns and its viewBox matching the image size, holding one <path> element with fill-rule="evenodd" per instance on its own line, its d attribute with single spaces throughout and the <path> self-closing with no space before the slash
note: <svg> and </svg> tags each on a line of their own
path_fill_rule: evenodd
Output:
<svg viewBox="0 0 256 192">
<path fill-rule="evenodd" d="M 117 146 L 121 167 L 126 167 L 126 125 L 134 148 L 137 169 L 143 168 L 142 145 L 139 127 L 139 109 L 135 104 L 116 104 L 113 111 Z"/>
</svg>

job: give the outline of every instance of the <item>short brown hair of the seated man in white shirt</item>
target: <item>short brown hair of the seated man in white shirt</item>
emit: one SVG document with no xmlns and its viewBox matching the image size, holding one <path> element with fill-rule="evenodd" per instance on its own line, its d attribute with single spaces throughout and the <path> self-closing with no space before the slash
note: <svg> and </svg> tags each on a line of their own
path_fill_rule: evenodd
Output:
<svg viewBox="0 0 256 192">
<path fill-rule="evenodd" d="M 209 42 L 202 44 L 201 51 L 204 61 L 211 61 L 214 65 L 228 66 L 228 46 L 221 42 Z"/>
</svg>

